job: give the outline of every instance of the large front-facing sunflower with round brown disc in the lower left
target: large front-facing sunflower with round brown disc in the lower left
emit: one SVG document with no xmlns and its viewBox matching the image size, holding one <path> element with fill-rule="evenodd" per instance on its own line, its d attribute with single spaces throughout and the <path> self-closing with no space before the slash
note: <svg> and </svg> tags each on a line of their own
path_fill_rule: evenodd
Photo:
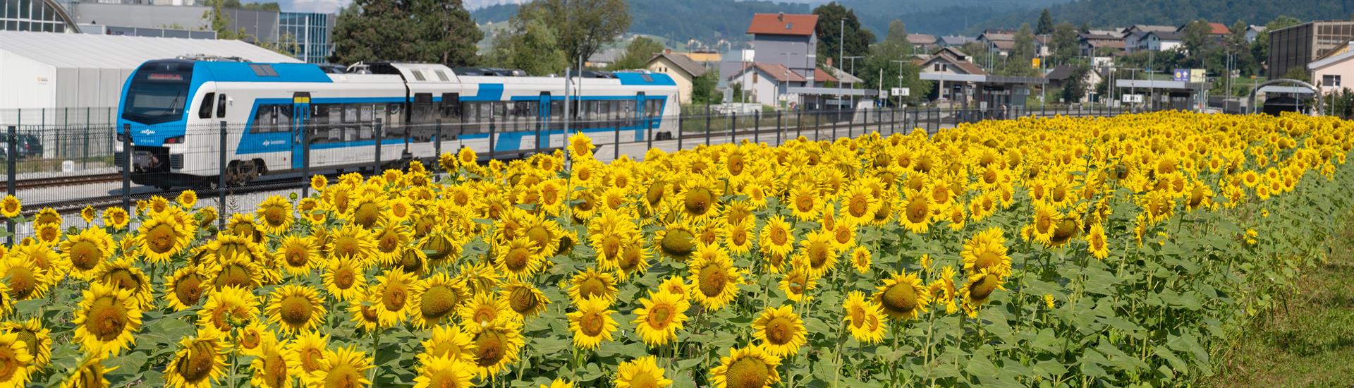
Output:
<svg viewBox="0 0 1354 388">
<path fill-rule="evenodd" d="M 102 357 L 130 349 L 141 331 L 141 308 L 131 290 L 103 282 L 89 284 L 76 308 L 74 341 L 85 353 Z"/>
</svg>

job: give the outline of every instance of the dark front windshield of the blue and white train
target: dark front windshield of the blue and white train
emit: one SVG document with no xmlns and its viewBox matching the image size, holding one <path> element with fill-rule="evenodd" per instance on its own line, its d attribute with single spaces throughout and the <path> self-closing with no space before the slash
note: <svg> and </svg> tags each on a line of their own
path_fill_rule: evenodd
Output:
<svg viewBox="0 0 1354 388">
<path fill-rule="evenodd" d="M 187 104 L 188 85 L 192 80 L 192 62 L 162 61 L 146 62 L 131 77 L 127 98 L 122 106 L 122 118 L 139 123 L 161 123 L 183 118 Z"/>
</svg>

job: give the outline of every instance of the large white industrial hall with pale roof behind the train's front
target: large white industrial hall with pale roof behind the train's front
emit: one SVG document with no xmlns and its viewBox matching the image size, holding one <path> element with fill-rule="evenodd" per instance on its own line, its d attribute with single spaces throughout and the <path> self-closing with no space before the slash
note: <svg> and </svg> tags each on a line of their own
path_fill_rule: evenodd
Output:
<svg viewBox="0 0 1354 388">
<path fill-rule="evenodd" d="M 299 62 L 242 41 L 0 31 L 0 126 L 107 123 L 137 66 L 192 54 Z M 104 113 L 72 118 L 72 109 Z"/>
</svg>

